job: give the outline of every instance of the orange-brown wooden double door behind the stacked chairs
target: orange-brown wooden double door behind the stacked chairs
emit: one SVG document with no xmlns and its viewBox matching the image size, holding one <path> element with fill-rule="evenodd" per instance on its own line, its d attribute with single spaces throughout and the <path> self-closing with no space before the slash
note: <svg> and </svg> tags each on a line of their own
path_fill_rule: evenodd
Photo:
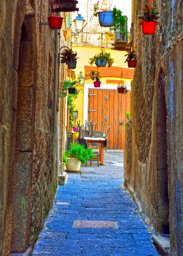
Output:
<svg viewBox="0 0 183 256">
<path fill-rule="evenodd" d="M 107 148 L 124 149 L 125 111 L 130 112 L 130 92 L 119 94 L 117 90 L 88 89 L 88 121 L 97 123 L 97 131 L 101 131 L 102 120 L 105 121 L 104 133 L 107 134 Z"/>
</svg>

